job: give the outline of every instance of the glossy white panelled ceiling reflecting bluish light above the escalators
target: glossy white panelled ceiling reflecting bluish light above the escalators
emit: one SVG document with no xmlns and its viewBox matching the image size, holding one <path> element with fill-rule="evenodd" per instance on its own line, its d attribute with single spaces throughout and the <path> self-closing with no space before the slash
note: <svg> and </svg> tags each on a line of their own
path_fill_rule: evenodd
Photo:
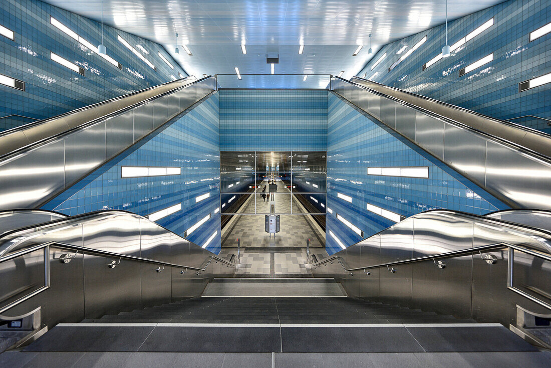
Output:
<svg viewBox="0 0 551 368">
<path fill-rule="evenodd" d="M 46 0 L 100 20 L 101 0 Z M 500 3 L 449 0 L 449 19 Z M 382 46 L 445 21 L 445 0 L 104 0 L 104 22 L 164 45 L 190 74 L 269 73 L 266 54 L 279 54 L 276 73 L 331 73 L 345 78 Z M 181 46 L 174 54 L 175 33 Z M 246 44 L 247 55 L 241 53 Z M 299 44 L 304 54 L 298 55 Z M 366 45 L 352 56 L 358 45 Z"/>
</svg>

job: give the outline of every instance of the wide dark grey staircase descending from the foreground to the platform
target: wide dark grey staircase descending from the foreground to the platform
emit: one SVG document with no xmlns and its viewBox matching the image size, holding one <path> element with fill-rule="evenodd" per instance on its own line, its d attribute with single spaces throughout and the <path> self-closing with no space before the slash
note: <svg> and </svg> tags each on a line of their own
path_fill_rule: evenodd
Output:
<svg viewBox="0 0 551 368">
<path fill-rule="evenodd" d="M 258 284 L 268 295 L 227 296 L 260 292 L 251 287 Z M 0 366 L 52 357 L 79 367 L 551 364 L 550 353 L 500 324 L 343 295 L 304 296 L 308 284 L 342 290 L 333 279 L 215 279 L 202 297 L 59 324 L 22 351 L 1 354 Z M 274 295 L 283 289 L 295 295 Z"/>
</svg>

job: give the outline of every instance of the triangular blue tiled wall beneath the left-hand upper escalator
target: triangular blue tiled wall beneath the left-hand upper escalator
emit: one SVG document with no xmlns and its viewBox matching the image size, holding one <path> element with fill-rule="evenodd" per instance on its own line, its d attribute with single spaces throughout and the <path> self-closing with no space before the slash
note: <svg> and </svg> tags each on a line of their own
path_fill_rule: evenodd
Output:
<svg viewBox="0 0 551 368">
<path fill-rule="evenodd" d="M 77 215 L 101 209 L 128 210 L 147 216 L 181 204 L 181 210 L 156 221 L 183 233 L 208 214 L 212 217 L 188 239 L 203 245 L 218 231 L 207 249 L 220 250 L 220 152 L 218 94 L 176 118 L 159 134 L 122 153 L 108 166 L 88 175 L 44 209 Z M 180 167 L 180 175 L 121 178 L 122 166 Z M 196 197 L 210 193 L 207 199 Z"/>
</svg>

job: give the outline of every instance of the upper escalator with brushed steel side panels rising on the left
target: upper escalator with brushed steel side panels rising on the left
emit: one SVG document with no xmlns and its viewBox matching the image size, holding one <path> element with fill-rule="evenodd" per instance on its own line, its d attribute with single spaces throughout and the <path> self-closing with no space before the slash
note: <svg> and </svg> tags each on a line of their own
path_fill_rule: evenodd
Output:
<svg viewBox="0 0 551 368">
<path fill-rule="evenodd" d="M 39 208 L 214 92 L 184 78 L 0 133 L 0 210 Z"/>
</svg>

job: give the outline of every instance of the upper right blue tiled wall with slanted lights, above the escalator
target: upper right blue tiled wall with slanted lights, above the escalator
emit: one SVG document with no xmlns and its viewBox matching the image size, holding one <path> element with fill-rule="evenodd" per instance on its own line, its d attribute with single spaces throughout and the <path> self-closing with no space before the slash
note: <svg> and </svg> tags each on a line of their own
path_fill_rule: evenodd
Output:
<svg viewBox="0 0 551 368">
<path fill-rule="evenodd" d="M 444 25 L 383 46 L 356 75 L 367 73 L 366 78 L 372 81 L 503 120 L 525 115 L 551 119 L 551 83 L 518 92 L 520 82 L 551 72 L 551 33 L 530 42 L 532 31 L 551 22 L 551 1 L 511 0 L 453 20 L 448 23 L 448 44 L 461 44 L 491 18 L 494 23 L 488 29 L 425 70 L 423 65 L 439 55 L 445 44 Z M 425 35 L 426 42 L 388 72 L 388 67 Z M 385 53 L 387 56 L 371 69 Z M 462 68 L 491 53 L 493 61 L 460 77 Z M 551 133 L 551 126 L 541 119 L 511 121 Z"/>
</svg>

